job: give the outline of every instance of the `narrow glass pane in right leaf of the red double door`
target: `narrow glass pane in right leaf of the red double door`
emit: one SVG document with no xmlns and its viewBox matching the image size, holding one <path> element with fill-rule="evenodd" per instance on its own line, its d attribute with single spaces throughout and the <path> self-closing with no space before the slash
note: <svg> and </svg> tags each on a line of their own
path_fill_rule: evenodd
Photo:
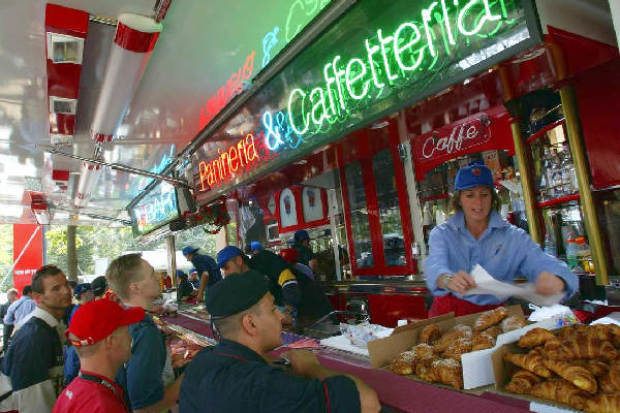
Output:
<svg viewBox="0 0 620 413">
<path fill-rule="evenodd" d="M 407 264 L 403 220 L 398 204 L 398 191 L 394 175 L 394 162 L 389 149 L 377 153 L 372 160 L 379 205 L 379 221 L 383 236 L 385 264 L 400 267 Z"/>
</svg>

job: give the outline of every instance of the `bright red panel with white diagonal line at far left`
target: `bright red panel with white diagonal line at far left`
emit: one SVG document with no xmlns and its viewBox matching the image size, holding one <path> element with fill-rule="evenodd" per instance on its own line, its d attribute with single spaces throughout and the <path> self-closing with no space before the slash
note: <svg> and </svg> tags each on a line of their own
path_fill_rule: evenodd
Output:
<svg viewBox="0 0 620 413">
<path fill-rule="evenodd" d="M 36 224 L 13 224 L 13 262 L 16 263 L 13 286 L 21 293 L 22 288 L 30 284 L 34 273 L 43 265 L 42 227 Z"/>
</svg>

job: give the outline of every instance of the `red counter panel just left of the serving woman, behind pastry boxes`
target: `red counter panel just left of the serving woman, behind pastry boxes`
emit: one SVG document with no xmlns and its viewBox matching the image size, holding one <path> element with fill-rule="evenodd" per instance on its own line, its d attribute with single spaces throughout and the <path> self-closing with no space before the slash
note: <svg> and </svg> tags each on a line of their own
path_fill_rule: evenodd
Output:
<svg viewBox="0 0 620 413">
<path fill-rule="evenodd" d="M 398 320 L 428 317 L 426 302 L 422 295 L 379 295 L 368 296 L 370 321 L 386 327 L 396 327 Z"/>
</svg>

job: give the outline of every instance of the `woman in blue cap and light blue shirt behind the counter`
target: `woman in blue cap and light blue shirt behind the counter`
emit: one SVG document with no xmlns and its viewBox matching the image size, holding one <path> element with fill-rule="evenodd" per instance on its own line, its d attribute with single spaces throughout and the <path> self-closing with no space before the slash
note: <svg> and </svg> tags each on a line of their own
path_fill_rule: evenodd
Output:
<svg viewBox="0 0 620 413">
<path fill-rule="evenodd" d="M 480 163 L 461 168 L 454 189 L 450 206 L 455 214 L 429 237 L 425 275 L 435 296 L 429 317 L 448 312 L 461 316 L 502 304 L 494 295 L 467 294 L 476 286 L 469 274 L 476 264 L 500 281 L 524 276 L 542 295 L 564 291 L 566 299 L 577 291 L 577 277 L 565 263 L 545 254 L 525 231 L 501 218 L 489 168 Z"/>
</svg>

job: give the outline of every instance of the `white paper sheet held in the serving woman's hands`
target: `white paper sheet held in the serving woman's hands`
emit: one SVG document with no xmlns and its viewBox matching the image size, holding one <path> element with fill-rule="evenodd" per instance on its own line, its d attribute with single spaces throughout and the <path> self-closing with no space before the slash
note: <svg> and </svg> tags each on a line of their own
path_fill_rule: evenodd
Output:
<svg viewBox="0 0 620 413">
<path fill-rule="evenodd" d="M 520 286 L 498 281 L 493 278 L 480 264 L 476 264 L 471 271 L 476 287 L 467 290 L 467 295 L 490 294 L 505 301 L 508 297 L 519 297 L 536 305 L 553 305 L 564 298 L 564 293 L 555 295 L 536 294 L 534 284 L 527 283 Z"/>
</svg>

